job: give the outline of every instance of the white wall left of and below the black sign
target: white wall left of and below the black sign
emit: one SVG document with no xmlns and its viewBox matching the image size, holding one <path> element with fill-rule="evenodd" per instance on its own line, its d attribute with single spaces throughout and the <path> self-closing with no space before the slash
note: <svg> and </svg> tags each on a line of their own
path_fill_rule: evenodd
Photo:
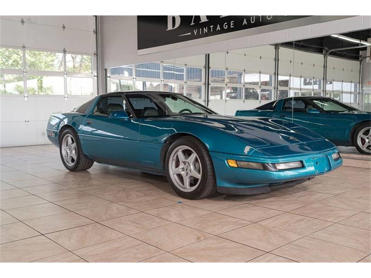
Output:
<svg viewBox="0 0 371 278">
<path fill-rule="evenodd" d="M 321 37 L 367 28 L 371 28 L 371 16 L 354 16 L 237 39 L 221 40 L 200 46 L 183 47 L 138 56 L 137 17 L 100 16 L 101 59 L 104 67 L 110 68 L 127 64 L 154 62 L 176 57 L 309 39 L 311 37 Z"/>
</svg>

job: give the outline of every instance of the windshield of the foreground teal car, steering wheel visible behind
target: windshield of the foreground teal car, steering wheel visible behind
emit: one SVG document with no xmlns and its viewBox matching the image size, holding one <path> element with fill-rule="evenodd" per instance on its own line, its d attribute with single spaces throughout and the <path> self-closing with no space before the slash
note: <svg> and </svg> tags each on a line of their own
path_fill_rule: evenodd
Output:
<svg viewBox="0 0 371 278">
<path fill-rule="evenodd" d="M 137 118 L 216 114 L 209 108 L 188 99 L 183 95 L 171 93 L 127 94 Z"/>
</svg>

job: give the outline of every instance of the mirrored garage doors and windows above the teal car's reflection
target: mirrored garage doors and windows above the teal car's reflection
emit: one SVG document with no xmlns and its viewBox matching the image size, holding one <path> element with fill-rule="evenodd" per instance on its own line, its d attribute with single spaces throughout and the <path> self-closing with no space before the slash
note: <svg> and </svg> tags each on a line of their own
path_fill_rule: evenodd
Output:
<svg viewBox="0 0 371 278">
<path fill-rule="evenodd" d="M 367 41 L 367 37 L 370 30 L 361 30 L 341 36 L 114 67 L 108 73 L 108 92 L 183 93 L 223 115 L 296 96 L 332 97 L 370 111 L 371 92 L 366 82 L 364 88 L 361 86 L 364 94 L 359 92 L 360 82 L 365 80 L 362 76 L 370 76 L 370 67 L 365 64 L 369 46 L 365 42 L 364 47 L 359 47 L 359 41 Z"/>
</svg>

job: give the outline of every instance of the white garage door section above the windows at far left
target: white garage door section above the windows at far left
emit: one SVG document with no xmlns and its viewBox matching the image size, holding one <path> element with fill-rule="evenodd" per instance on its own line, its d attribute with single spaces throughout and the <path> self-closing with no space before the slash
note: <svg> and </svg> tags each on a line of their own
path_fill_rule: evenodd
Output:
<svg viewBox="0 0 371 278">
<path fill-rule="evenodd" d="M 58 52 L 65 48 L 67 52 L 93 54 L 94 28 L 93 16 L 1 16 L 0 44 L 13 47 L 24 44 L 26 48 Z"/>
</svg>

